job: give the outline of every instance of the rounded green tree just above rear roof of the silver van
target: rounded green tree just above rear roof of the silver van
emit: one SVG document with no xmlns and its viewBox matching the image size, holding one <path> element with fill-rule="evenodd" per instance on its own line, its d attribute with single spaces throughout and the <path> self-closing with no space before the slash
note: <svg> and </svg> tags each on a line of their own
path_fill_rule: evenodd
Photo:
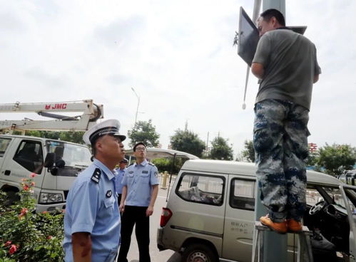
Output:
<svg viewBox="0 0 356 262">
<path fill-rule="evenodd" d="M 205 142 L 197 134 L 188 130 L 176 130 L 171 137 L 173 150 L 179 150 L 201 157 L 205 149 Z"/>
</svg>

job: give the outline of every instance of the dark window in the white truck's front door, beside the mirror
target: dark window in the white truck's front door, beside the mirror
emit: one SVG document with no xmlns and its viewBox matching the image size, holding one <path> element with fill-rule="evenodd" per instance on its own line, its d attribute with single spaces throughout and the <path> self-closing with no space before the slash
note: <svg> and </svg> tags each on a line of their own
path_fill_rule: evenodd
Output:
<svg viewBox="0 0 356 262">
<path fill-rule="evenodd" d="M 16 151 L 14 160 L 30 172 L 40 174 L 44 164 L 41 142 L 23 140 Z"/>
</svg>

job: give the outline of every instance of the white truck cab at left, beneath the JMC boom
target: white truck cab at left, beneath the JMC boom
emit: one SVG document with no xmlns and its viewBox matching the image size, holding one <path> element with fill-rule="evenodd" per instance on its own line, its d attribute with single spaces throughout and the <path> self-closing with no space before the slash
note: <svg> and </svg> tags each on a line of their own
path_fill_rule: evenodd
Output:
<svg viewBox="0 0 356 262">
<path fill-rule="evenodd" d="M 0 135 L 0 190 L 8 204 L 18 199 L 21 179 L 34 177 L 36 211 L 65 209 L 66 196 L 79 172 L 91 164 L 88 147 L 41 137 Z"/>
</svg>

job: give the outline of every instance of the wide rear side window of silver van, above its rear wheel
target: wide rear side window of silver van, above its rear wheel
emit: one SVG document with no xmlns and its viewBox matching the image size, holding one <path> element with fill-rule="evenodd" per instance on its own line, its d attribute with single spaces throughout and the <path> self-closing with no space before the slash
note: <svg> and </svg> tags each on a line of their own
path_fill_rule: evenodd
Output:
<svg viewBox="0 0 356 262">
<path fill-rule="evenodd" d="M 224 177 L 183 174 L 178 182 L 176 194 L 186 201 L 221 206 L 224 183 Z"/>
</svg>

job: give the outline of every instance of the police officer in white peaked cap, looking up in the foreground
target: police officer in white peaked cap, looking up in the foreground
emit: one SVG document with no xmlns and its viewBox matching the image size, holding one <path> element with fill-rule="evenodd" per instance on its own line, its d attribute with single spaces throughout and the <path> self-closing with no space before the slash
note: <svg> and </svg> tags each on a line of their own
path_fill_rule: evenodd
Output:
<svg viewBox="0 0 356 262">
<path fill-rule="evenodd" d="M 124 157 L 118 120 L 106 120 L 83 135 L 91 145 L 93 164 L 78 174 L 68 193 L 64 216 L 64 260 L 113 262 L 121 219 L 115 188 L 115 166 Z"/>
</svg>

